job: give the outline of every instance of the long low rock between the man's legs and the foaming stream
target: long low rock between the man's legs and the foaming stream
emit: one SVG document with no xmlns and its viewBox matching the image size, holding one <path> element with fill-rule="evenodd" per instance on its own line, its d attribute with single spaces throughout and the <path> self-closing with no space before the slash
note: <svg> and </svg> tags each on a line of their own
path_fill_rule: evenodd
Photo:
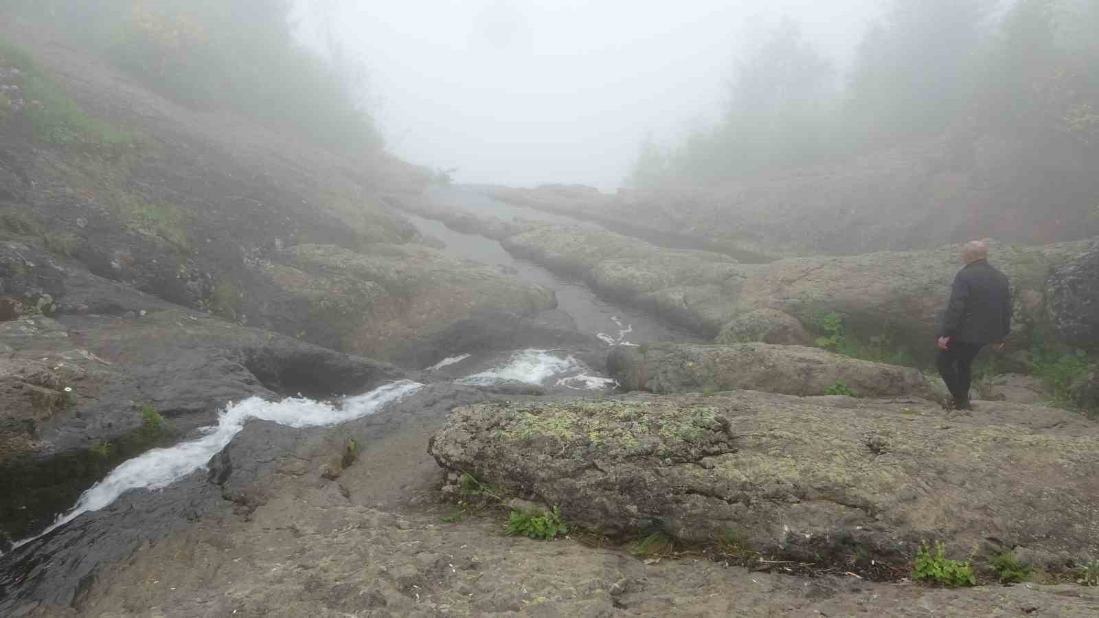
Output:
<svg viewBox="0 0 1099 618">
<path fill-rule="evenodd" d="M 607 371 L 622 388 L 657 394 L 747 389 L 811 396 L 824 395 L 837 382 L 861 397 L 931 394 L 914 368 L 767 343 L 615 347 L 607 357 Z"/>
</svg>

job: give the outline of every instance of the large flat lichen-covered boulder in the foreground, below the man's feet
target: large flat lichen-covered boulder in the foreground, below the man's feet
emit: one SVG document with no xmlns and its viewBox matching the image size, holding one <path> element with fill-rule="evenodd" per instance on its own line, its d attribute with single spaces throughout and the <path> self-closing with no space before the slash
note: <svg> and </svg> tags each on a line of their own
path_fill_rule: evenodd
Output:
<svg viewBox="0 0 1099 618">
<path fill-rule="evenodd" d="M 622 396 L 455 409 L 429 446 L 498 493 L 608 534 L 735 537 L 779 560 L 907 567 L 920 541 L 1017 548 L 1064 571 L 1099 551 L 1099 426 L 997 404 Z M 992 545 L 992 547 L 989 547 Z"/>
</svg>

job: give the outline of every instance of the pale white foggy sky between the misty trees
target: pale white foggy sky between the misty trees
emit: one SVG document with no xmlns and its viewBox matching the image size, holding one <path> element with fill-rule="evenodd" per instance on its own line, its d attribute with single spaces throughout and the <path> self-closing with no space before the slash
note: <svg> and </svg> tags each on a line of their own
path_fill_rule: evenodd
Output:
<svg viewBox="0 0 1099 618">
<path fill-rule="evenodd" d="M 885 0 L 330 0 L 391 152 L 460 183 L 613 190 L 645 134 L 717 115 L 782 16 L 845 68 Z"/>
</svg>

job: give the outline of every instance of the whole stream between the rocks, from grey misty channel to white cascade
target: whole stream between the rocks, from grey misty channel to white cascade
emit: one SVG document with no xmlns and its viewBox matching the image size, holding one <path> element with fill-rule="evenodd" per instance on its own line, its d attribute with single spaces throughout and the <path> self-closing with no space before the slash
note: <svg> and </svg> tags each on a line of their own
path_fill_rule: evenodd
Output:
<svg viewBox="0 0 1099 618">
<path fill-rule="evenodd" d="M 506 205 L 485 196 L 459 191 L 462 205 L 470 211 L 498 218 L 526 218 L 551 220 L 557 223 L 581 224 L 566 217 Z M 455 232 L 439 221 L 409 217 L 425 234 L 446 243 L 444 253 L 485 264 L 500 266 L 514 273 L 523 282 L 542 285 L 557 295 L 558 308 L 576 321 L 577 329 L 588 332 L 608 346 L 633 345 L 645 341 L 699 341 L 682 329 L 665 324 L 643 311 L 618 306 L 598 298 L 586 285 L 558 277 L 535 264 L 517 260 L 500 243 L 475 234 Z M 582 223 L 590 225 L 590 223 Z M 455 365 L 468 358 L 459 354 L 440 361 L 428 371 Z M 557 350 L 519 350 L 490 369 L 474 373 L 455 380 L 457 384 L 488 386 L 501 383 L 553 385 L 574 390 L 598 390 L 614 386 L 614 382 L 598 375 L 566 352 Z M 204 467 L 210 459 L 224 449 L 233 437 L 244 429 L 248 419 L 263 419 L 288 427 L 319 427 L 362 418 L 377 412 L 387 404 L 414 394 L 423 385 L 402 380 L 378 387 L 369 393 L 346 397 L 336 404 L 314 401 L 302 397 L 281 401 L 266 401 L 252 397 L 231 404 L 221 411 L 217 426 L 207 427 L 202 435 L 166 449 L 152 449 L 127 460 L 108 473 L 107 477 L 80 495 L 77 504 L 59 515 L 42 533 L 15 543 L 23 545 L 34 539 L 73 521 L 81 514 L 99 510 L 113 503 L 130 489 L 159 489 Z"/>
</svg>

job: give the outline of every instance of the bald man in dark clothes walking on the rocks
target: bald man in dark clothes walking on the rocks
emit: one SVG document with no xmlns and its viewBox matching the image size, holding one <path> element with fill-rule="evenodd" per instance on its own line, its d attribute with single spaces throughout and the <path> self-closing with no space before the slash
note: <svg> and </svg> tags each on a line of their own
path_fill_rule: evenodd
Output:
<svg viewBox="0 0 1099 618">
<path fill-rule="evenodd" d="M 985 243 L 966 243 L 962 262 L 965 267 L 954 277 L 939 331 L 939 374 L 953 396 L 953 407 L 972 410 L 973 360 L 989 343 L 1002 350 L 1011 332 L 1011 288 L 1008 277 L 988 263 Z"/>
</svg>

